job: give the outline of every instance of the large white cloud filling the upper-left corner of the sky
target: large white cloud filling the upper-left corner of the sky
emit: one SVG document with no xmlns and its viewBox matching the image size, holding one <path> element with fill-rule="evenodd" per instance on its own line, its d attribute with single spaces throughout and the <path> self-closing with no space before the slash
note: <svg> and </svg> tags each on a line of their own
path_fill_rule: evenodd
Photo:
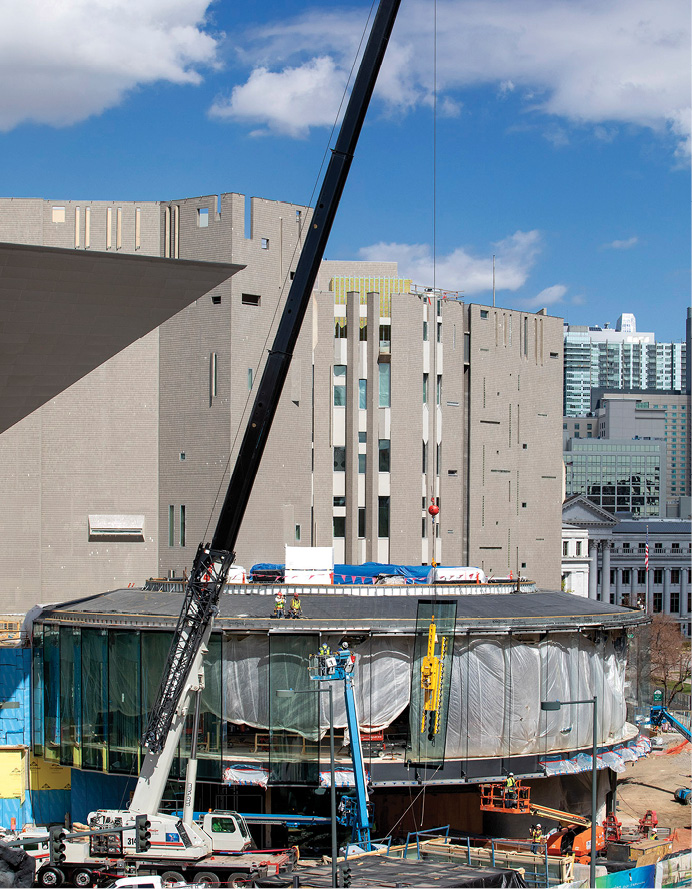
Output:
<svg viewBox="0 0 692 889">
<path fill-rule="evenodd" d="M 133 88 L 199 83 L 216 61 L 210 0 L 21 0 L 0 3 L 0 131 L 65 126 Z"/>
</svg>

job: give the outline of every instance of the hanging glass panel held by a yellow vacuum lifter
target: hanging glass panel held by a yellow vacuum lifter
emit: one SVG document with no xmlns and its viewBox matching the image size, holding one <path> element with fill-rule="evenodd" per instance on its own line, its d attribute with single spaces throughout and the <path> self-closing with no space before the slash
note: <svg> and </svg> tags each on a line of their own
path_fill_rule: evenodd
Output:
<svg viewBox="0 0 692 889">
<path fill-rule="evenodd" d="M 455 599 L 420 599 L 411 674 L 407 762 L 442 765 L 454 651 Z"/>
</svg>

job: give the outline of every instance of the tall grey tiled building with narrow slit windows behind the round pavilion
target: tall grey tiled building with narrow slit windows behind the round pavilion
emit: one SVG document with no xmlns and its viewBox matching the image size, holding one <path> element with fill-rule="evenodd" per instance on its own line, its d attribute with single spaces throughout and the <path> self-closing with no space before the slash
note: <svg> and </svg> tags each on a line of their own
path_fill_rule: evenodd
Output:
<svg viewBox="0 0 692 889">
<path fill-rule="evenodd" d="M 0 436 L 0 491 L 22 503 L 21 520 L 3 510 L 1 558 L 32 547 L 0 611 L 181 574 L 211 535 L 310 216 L 249 205 L 0 200 L 5 241 L 245 266 Z M 562 322 L 450 296 L 391 263 L 324 264 L 239 562 L 334 543 L 347 560 L 435 556 L 559 588 Z M 90 516 L 128 515 L 146 516 L 138 539 L 90 539 Z"/>
</svg>

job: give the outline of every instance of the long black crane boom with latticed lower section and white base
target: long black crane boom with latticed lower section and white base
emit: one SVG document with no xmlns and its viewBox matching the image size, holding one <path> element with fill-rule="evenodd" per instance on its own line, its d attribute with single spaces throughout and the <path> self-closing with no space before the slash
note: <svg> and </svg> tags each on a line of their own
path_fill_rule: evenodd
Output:
<svg viewBox="0 0 692 889">
<path fill-rule="evenodd" d="M 233 473 L 212 537 L 201 545 L 190 571 L 185 598 L 166 660 L 156 702 L 143 736 L 145 762 L 133 796 L 131 811 L 156 811 L 195 685 L 193 666 L 201 666 L 201 649 L 209 638 L 228 569 L 233 563 L 240 525 L 259 469 L 293 350 L 310 302 L 317 272 L 339 206 L 341 194 L 365 120 L 370 98 L 394 26 L 400 0 L 380 0 L 370 36 L 354 81 L 317 203 L 309 221 L 286 305 L 254 405 L 238 451 Z M 183 715 L 183 718 L 181 718 Z M 149 760 L 149 762 L 147 762 Z"/>
</svg>

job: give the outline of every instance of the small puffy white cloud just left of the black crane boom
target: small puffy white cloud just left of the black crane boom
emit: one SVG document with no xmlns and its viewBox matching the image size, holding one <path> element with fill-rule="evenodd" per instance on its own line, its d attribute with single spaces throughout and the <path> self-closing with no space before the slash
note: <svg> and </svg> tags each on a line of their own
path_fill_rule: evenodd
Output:
<svg viewBox="0 0 692 889">
<path fill-rule="evenodd" d="M 329 56 L 280 72 L 255 68 L 247 83 L 234 87 L 228 99 L 218 99 L 209 113 L 305 136 L 310 127 L 334 122 L 345 86 L 345 72 Z"/>
</svg>

